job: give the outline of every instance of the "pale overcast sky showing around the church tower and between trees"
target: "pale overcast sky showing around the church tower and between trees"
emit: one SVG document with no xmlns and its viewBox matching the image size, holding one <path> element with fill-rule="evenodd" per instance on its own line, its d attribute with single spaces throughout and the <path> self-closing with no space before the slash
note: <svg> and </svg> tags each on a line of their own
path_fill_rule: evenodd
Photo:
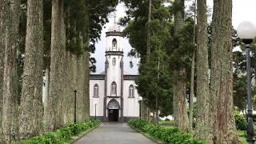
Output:
<svg viewBox="0 0 256 144">
<path fill-rule="evenodd" d="M 207 0 L 207 5 L 212 8 L 213 7 L 213 0 Z M 239 23 L 242 21 L 250 21 L 256 24 L 256 0 L 233 0 L 233 16 L 232 16 L 232 22 L 234 29 L 237 29 Z M 117 19 L 122 18 L 126 15 L 125 13 L 125 7 L 122 3 L 118 4 L 117 6 Z M 109 29 L 111 25 L 114 23 L 114 18 L 110 18 L 110 22 L 107 23 L 103 30 L 102 30 L 102 37 L 101 40 L 96 44 L 96 50 L 95 53 L 92 54 L 92 57 L 96 58 L 96 73 L 99 74 L 102 71 L 104 71 L 104 63 L 105 63 L 105 44 L 106 44 L 106 30 Z M 122 27 L 122 30 L 124 27 Z M 131 46 L 128 42 L 128 39 L 126 38 L 124 41 L 124 70 L 128 74 L 138 74 L 138 58 L 128 58 L 127 54 L 131 49 Z M 130 68 L 129 62 L 134 62 L 134 67 Z"/>
</svg>

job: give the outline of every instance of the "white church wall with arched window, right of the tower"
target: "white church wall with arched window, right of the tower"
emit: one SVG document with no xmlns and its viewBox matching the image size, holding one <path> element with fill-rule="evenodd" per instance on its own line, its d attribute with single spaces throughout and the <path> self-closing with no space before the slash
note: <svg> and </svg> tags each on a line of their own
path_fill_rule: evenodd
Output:
<svg viewBox="0 0 256 144">
<path fill-rule="evenodd" d="M 136 90 L 135 82 L 132 80 L 125 80 L 123 90 L 123 113 L 125 117 L 138 117 L 139 104 L 138 104 L 138 91 Z M 134 98 L 129 98 L 129 86 L 134 86 Z"/>
</svg>

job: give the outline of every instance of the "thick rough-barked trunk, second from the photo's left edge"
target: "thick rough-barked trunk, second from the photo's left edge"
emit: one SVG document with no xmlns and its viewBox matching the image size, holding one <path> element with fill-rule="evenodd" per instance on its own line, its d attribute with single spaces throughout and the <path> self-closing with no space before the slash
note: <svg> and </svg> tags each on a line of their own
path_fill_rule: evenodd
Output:
<svg viewBox="0 0 256 144">
<path fill-rule="evenodd" d="M 42 6 L 42 0 L 27 1 L 26 59 L 22 76 L 22 98 L 19 115 L 19 131 L 22 139 L 42 133 Z"/>
</svg>

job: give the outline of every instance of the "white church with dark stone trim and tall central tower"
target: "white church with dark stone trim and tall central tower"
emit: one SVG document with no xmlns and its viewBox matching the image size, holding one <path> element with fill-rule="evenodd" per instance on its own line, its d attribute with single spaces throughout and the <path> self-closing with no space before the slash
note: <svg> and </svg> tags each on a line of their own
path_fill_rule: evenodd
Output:
<svg viewBox="0 0 256 144">
<path fill-rule="evenodd" d="M 128 122 L 139 117 L 138 92 L 134 79 L 123 69 L 123 37 L 114 23 L 106 32 L 105 71 L 90 74 L 90 118 L 102 122 Z"/>
</svg>

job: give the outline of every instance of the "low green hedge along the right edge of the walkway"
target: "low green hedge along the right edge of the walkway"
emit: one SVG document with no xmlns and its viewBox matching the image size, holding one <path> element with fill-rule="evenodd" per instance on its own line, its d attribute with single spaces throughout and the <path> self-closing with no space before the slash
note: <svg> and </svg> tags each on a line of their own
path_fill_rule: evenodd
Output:
<svg viewBox="0 0 256 144">
<path fill-rule="evenodd" d="M 156 140 L 162 141 L 164 143 L 172 144 L 206 144 L 198 138 L 193 138 L 192 135 L 181 132 L 178 128 L 165 128 L 160 126 L 154 126 L 152 123 L 132 119 L 128 122 L 129 126 L 141 130 L 143 133 L 150 134 Z"/>
</svg>

